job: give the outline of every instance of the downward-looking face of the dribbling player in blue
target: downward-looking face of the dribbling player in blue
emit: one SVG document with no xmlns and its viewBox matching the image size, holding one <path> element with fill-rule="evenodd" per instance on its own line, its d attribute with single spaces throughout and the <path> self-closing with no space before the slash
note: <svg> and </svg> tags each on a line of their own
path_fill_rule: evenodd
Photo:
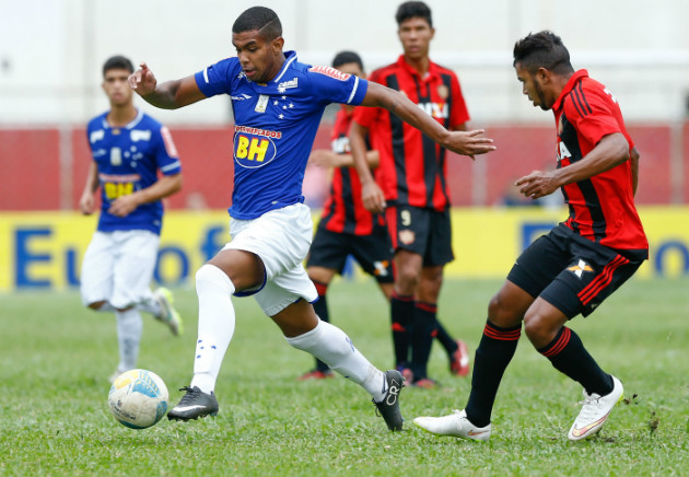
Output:
<svg viewBox="0 0 689 477">
<path fill-rule="evenodd" d="M 267 40 L 258 30 L 232 33 L 232 44 L 244 74 L 253 82 L 267 83 L 280 72 L 284 60 L 281 36 Z"/>
</svg>

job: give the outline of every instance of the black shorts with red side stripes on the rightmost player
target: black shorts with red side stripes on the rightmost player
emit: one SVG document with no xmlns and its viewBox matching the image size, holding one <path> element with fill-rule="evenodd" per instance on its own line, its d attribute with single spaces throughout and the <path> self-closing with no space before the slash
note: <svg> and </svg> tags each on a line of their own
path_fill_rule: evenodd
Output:
<svg viewBox="0 0 689 477">
<path fill-rule="evenodd" d="M 618 252 L 560 224 L 519 255 L 507 280 L 571 319 L 593 313 L 647 257 L 649 251 Z"/>
</svg>

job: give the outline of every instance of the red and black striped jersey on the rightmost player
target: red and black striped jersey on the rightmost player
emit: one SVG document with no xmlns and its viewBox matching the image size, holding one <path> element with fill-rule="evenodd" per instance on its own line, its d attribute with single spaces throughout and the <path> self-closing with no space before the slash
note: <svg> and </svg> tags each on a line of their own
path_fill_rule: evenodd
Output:
<svg viewBox="0 0 689 477">
<path fill-rule="evenodd" d="M 558 168 L 586 156 L 607 135 L 624 135 L 617 100 L 605 85 L 579 70 L 552 106 L 558 128 Z M 631 160 L 577 183 L 562 187 L 570 209 L 565 225 L 591 241 L 616 249 L 647 249 L 649 242 L 634 206 Z"/>
</svg>

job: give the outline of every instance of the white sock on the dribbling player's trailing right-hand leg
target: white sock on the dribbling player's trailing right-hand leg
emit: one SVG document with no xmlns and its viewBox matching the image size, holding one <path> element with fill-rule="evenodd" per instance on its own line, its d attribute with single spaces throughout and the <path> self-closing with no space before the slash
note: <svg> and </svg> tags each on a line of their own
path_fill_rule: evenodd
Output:
<svg viewBox="0 0 689 477">
<path fill-rule="evenodd" d="M 349 336 L 337 326 L 318 321 L 318 325 L 311 331 L 287 340 L 294 348 L 310 352 L 362 386 L 376 403 L 385 397 L 385 373 L 371 364 L 354 347 Z"/>
</svg>

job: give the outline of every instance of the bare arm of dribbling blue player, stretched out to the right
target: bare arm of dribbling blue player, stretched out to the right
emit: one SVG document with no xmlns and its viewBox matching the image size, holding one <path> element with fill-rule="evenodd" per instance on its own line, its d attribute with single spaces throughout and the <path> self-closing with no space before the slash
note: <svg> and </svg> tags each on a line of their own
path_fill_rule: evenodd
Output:
<svg viewBox="0 0 689 477">
<path fill-rule="evenodd" d="M 405 123 L 420 129 L 429 138 L 457 154 L 476 155 L 494 151 L 493 140 L 482 137 L 482 129 L 448 131 L 398 91 L 369 82 L 362 106 L 384 107 Z"/>
</svg>

